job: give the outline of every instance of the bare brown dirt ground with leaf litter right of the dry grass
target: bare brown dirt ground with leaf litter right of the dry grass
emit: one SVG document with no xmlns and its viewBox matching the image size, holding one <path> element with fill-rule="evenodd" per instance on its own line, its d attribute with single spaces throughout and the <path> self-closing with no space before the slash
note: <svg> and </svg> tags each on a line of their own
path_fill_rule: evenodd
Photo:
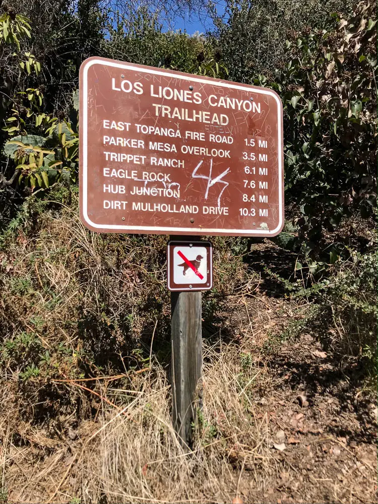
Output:
<svg viewBox="0 0 378 504">
<path fill-rule="evenodd" d="M 258 494 L 241 480 L 245 502 L 377 501 L 376 408 L 324 356 L 303 335 L 266 363 L 274 377 L 255 414 L 273 434 L 271 463 L 284 469 Z"/>
</svg>

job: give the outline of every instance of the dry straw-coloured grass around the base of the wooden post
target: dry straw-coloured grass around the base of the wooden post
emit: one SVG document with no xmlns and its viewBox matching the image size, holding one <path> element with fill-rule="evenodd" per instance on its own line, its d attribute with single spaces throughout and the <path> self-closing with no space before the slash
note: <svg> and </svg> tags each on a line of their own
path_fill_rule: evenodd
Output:
<svg viewBox="0 0 378 504">
<path fill-rule="evenodd" d="M 131 377 L 127 390 L 116 391 L 123 395 L 121 409 L 102 400 L 97 421 L 83 422 L 69 446 L 48 443 L 42 429 L 33 435 L 30 427 L 23 431 L 26 445 L 17 446 L 2 416 L 9 500 L 230 502 L 240 491 L 240 471 L 244 491 L 246 485 L 262 489 L 276 463 L 267 419 L 256 418 L 248 387 L 255 387 L 256 374 L 265 370 L 250 366 L 244 371 L 249 383 L 241 387 L 240 351 L 221 347 L 205 348 L 204 408 L 190 454 L 181 450 L 172 429 L 167 373 L 156 362 L 143 376 Z M 109 387 L 106 397 L 112 392 Z"/>
</svg>

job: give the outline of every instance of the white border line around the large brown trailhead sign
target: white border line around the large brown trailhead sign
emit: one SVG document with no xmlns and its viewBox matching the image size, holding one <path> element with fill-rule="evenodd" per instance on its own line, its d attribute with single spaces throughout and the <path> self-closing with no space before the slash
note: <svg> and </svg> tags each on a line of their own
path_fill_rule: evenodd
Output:
<svg viewBox="0 0 378 504">
<path fill-rule="evenodd" d="M 119 231 L 133 231 L 135 233 L 138 232 L 145 232 L 148 233 L 148 231 L 151 232 L 156 232 L 156 231 L 166 231 L 167 233 L 174 234 L 175 232 L 181 232 L 181 233 L 190 233 L 190 234 L 201 234 L 201 235 L 211 235 L 211 234 L 218 234 L 218 233 L 224 233 L 225 235 L 227 234 L 236 234 L 239 236 L 252 236 L 252 235 L 257 235 L 257 234 L 262 234 L 264 236 L 267 235 L 276 235 L 279 233 L 283 227 L 283 188 L 282 188 L 282 180 L 283 180 L 283 166 L 282 166 L 282 150 L 283 150 L 283 142 L 282 142 L 282 115 L 281 115 L 281 101 L 278 97 L 278 95 L 267 89 L 253 89 L 254 93 L 261 93 L 261 94 L 267 94 L 270 96 L 273 96 L 273 98 L 277 102 L 277 117 L 278 117 L 278 148 L 279 148 L 279 153 L 278 153 L 278 175 L 279 175 L 279 187 L 278 187 L 278 194 L 279 194 L 279 210 L 280 210 L 280 219 L 279 219 L 279 224 L 275 229 L 269 230 L 269 229 L 210 229 L 210 228 L 203 228 L 203 227 L 162 227 L 162 226 L 128 226 L 128 225 L 116 225 L 116 224 L 96 224 L 95 222 L 91 221 L 91 219 L 88 216 L 88 70 L 90 67 L 93 65 L 105 65 L 108 67 L 113 67 L 113 68 L 119 68 L 119 69 L 124 69 L 124 70 L 133 70 L 135 71 L 136 68 L 138 68 L 139 72 L 145 72 L 148 74 L 155 74 L 159 76 L 168 76 L 171 77 L 172 79 L 182 79 L 186 81 L 195 81 L 195 82 L 200 82 L 202 84 L 209 84 L 210 81 L 206 79 L 201 79 L 199 77 L 196 77 L 195 75 L 191 77 L 187 77 L 185 75 L 180 75 L 180 74 L 171 74 L 170 72 L 161 72 L 158 70 L 155 70 L 153 67 L 150 68 L 143 68 L 143 67 L 135 67 L 134 65 L 128 65 L 122 62 L 116 62 L 112 60 L 106 60 L 106 59 L 98 59 L 96 57 L 91 57 L 86 59 L 82 67 L 83 68 L 83 104 L 80 104 L 80 106 L 83 107 L 83 125 L 82 125 L 82 132 L 83 135 L 80 139 L 81 142 L 81 149 L 83 153 L 83 177 L 82 177 L 82 187 L 81 187 L 81 192 L 82 192 L 82 211 L 83 211 L 83 218 L 85 222 L 95 228 L 98 229 L 99 232 L 103 230 L 106 232 L 108 229 L 114 230 L 116 232 L 117 230 Z M 219 87 L 224 87 L 224 88 L 233 88 L 233 89 L 241 89 L 243 91 L 248 91 L 251 92 L 250 87 L 245 87 L 243 85 L 235 85 L 234 83 L 228 83 L 228 82 L 222 82 L 222 81 L 217 81 L 214 80 L 212 83 L 213 86 L 219 86 Z M 192 289 L 191 289 L 192 290 Z"/>
</svg>

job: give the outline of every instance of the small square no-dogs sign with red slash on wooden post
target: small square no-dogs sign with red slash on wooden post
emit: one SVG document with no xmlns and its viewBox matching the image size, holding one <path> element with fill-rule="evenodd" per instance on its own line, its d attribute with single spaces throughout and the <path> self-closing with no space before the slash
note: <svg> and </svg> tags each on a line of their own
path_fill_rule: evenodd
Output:
<svg viewBox="0 0 378 504">
<path fill-rule="evenodd" d="M 213 287 L 213 245 L 210 241 L 168 241 L 168 290 L 210 290 Z"/>
</svg>

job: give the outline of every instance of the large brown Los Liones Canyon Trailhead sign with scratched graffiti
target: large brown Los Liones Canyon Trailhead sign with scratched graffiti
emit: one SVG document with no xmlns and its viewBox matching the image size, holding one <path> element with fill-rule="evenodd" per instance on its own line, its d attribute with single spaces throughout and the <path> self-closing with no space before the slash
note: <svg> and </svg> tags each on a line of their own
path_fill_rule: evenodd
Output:
<svg viewBox="0 0 378 504">
<path fill-rule="evenodd" d="M 282 104 L 266 88 L 99 57 L 80 69 L 80 213 L 98 232 L 274 236 Z"/>
</svg>

